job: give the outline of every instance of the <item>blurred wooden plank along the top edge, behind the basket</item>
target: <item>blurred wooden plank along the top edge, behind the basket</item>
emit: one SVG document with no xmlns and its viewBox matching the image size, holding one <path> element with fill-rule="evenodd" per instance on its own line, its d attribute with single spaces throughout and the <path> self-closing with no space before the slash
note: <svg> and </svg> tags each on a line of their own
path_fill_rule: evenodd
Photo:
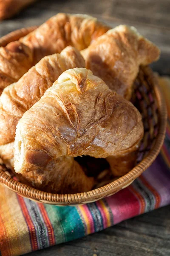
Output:
<svg viewBox="0 0 170 256">
<path fill-rule="evenodd" d="M 105 17 L 115 17 L 132 22 L 146 23 L 147 25 L 155 25 L 170 29 L 170 15 L 168 12 L 169 1 L 163 0 L 79 0 L 48 1 L 48 9 L 64 12 L 89 13 L 92 15 L 104 15 Z M 45 7 L 46 1 L 42 0 L 41 4 L 37 3 L 37 7 Z M 36 7 L 35 7 L 36 8 Z"/>
</svg>

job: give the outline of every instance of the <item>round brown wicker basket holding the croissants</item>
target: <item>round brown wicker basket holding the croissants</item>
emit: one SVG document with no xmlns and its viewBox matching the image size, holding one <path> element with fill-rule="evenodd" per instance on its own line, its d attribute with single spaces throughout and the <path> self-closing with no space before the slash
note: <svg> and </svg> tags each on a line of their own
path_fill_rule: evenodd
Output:
<svg viewBox="0 0 170 256">
<path fill-rule="evenodd" d="M 9 33 L 0 39 L 0 46 L 6 46 L 9 42 L 27 35 L 35 28 L 30 27 Z M 0 184 L 31 200 L 62 206 L 94 202 L 129 186 L 153 163 L 159 154 L 166 131 L 167 111 L 165 101 L 157 80 L 149 67 L 141 67 L 139 71 L 134 83 L 132 102 L 142 114 L 144 138 L 138 154 L 138 163 L 126 175 L 89 192 L 59 195 L 42 192 L 20 183 L 7 174 L 5 166 L 0 166 Z"/>
</svg>

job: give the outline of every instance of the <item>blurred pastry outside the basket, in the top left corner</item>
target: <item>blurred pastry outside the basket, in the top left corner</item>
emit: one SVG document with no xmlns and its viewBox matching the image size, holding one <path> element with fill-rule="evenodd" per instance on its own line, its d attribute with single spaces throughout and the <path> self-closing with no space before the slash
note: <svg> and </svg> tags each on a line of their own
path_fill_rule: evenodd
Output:
<svg viewBox="0 0 170 256">
<path fill-rule="evenodd" d="M 0 0 L 0 20 L 10 18 L 35 0 Z"/>
</svg>

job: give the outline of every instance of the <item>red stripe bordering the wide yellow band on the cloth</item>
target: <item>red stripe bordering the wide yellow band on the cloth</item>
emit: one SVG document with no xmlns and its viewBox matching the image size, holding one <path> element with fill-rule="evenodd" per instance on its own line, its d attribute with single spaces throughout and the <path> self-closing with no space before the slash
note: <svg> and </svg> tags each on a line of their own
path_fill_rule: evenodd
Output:
<svg viewBox="0 0 170 256">
<path fill-rule="evenodd" d="M 20 207 L 22 209 L 24 218 L 26 220 L 27 226 L 28 226 L 28 230 L 29 230 L 29 235 L 30 235 L 30 239 L 31 239 L 31 247 L 32 250 L 38 250 L 38 244 L 37 244 L 37 236 L 36 236 L 36 230 L 34 227 L 34 223 L 30 218 L 28 209 L 26 207 L 25 201 L 23 199 L 23 197 L 21 197 L 20 195 L 17 195 L 18 201 L 20 203 Z"/>
</svg>

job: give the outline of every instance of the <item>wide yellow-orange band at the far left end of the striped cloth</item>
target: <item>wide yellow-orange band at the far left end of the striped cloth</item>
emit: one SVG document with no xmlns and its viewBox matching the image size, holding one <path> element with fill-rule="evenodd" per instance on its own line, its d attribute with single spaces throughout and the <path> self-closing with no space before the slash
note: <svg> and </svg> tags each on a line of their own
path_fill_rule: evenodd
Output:
<svg viewBox="0 0 170 256">
<path fill-rule="evenodd" d="M 28 227 L 23 217 L 15 192 L 0 186 L 0 237 L 2 256 L 22 255 L 31 252 Z M 1 234 L 1 233 L 0 233 Z"/>
</svg>

